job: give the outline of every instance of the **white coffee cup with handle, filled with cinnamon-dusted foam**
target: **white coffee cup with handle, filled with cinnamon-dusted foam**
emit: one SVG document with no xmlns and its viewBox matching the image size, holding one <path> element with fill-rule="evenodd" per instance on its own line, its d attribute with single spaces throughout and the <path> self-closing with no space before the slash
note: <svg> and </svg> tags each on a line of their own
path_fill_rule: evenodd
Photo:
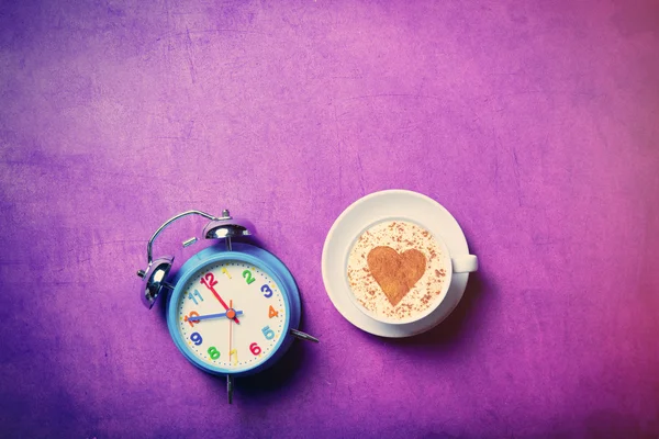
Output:
<svg viewBox="0 0 659 439">
<path fill-rule="evenodd" d="M 368 317 L 405 325 L 446 299 L 453 273 L 478 269 L 474 255 L 451 256 L 440 236 L 409 218 L 379 221 L 353 243 L 346 274 L 350 301 Z"/>
</svg>

